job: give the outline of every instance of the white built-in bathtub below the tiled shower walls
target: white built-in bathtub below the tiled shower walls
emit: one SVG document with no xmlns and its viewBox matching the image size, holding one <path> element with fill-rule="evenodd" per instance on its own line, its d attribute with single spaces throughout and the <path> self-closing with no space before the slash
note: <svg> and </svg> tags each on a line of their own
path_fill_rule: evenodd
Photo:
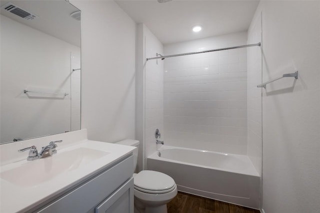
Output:
<svg viewBox="0 0 320 213">
<path fill-rule="evenodd" d="M 259 209 L 260 177 L 247 156 L 162 146 L 147 169 L 171 176 L 181 192 Z"/>
</svg>

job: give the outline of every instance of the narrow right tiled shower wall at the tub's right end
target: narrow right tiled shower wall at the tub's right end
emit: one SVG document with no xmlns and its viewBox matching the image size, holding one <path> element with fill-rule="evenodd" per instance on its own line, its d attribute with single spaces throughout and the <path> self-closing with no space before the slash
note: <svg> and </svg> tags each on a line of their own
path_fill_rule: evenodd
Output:
<svg viewBox="0 0 320 213">
<path fill-rule="evenodd" d="M 248 29 L 248 44 L 261 43 L 261 15 L 256 13 Z M 261 177 L 262 173 L 262 96 L 257 88 L 262 80 L 261 47 L 247 48 L 247 155 Z"/>
</svg>

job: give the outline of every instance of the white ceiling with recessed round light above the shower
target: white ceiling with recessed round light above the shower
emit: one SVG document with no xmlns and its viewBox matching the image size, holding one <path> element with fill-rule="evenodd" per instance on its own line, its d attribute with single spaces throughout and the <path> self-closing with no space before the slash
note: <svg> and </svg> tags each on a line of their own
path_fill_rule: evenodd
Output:
<svg viewBox="0 0 320 213">
<path fill-rule="evenodd" d="M 258 0 L 115 0 L 137 23 L 144 23 L 169 44 L 232 32 L 246 31 Z M 201 25 L 200 32 L 192 26 Z"/>
</svg>

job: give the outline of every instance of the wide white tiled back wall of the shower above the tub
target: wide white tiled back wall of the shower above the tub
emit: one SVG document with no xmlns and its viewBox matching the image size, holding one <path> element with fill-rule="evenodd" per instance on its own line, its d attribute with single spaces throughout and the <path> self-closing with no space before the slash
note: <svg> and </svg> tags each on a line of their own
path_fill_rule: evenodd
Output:
<svg viewBox="0 0 320 213">
<path fill-rule="evenodd" d="M 246 32 L 164 46 L 164 54 L 246 44 Z M 164 60 L 164 139 L 169 146 L 247 154 L 246 49 Z"/>
</svg>

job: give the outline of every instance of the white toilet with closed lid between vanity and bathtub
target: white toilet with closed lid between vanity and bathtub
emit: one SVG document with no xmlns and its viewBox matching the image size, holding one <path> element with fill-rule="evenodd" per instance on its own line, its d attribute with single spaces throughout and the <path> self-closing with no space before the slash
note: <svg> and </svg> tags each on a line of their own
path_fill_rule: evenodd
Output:
<svg viewBox="0 0 320 213">
<path fill-rule="evenodd" d="M 139 141 L 123 140 L 116 144 L 139 146 Z M 138 149 L 133 152 L 134 170 Z M 134 178 L 134 213 L 166 213 L 166 204 L 177 194 L 174 180 L 163 173 L 143 170 L 133 174 Z"/>
</svg>

